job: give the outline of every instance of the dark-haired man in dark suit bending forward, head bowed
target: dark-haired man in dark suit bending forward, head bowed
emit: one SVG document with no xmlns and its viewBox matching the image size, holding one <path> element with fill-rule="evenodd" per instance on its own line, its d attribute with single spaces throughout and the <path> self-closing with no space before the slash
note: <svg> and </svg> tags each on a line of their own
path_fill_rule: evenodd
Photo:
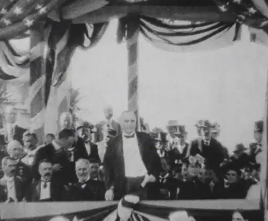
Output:
<svg viewBox="0 0 268 221">
<path fill-rule="evenodd" d="M 62 179 L 65 183 L 73 182 L 72 178 L 75 175 L 75 171 L 73 171 L 74 168 L 72 168 L 67 150 L 73 146 L 75 136 L 74 130 L 63 129 L 51 144 L 37 151 L 33 163 L 35 178 L 40 176 L 38 173 L 39 162 L 42 159 L 48 159 L 53 164 L 53 174 L 55 176 Z"/>
</svg>

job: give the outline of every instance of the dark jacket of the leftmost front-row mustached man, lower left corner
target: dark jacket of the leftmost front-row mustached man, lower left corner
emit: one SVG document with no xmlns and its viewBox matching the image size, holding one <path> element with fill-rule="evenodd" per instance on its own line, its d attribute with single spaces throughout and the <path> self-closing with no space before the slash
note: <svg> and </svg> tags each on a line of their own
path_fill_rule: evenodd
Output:
<svg viewBox="0 0 268 221">
<path fill-rule="evenodd" d="M 17 200 L 20 202 L 25 197 L 26 185 L 20 177 L 15 177 L 15 191 Z M 0 180 L 0 202 L 5 202 L 7 200 L 7 186 L 5 180 L 2 178 Z"/>
</svg>

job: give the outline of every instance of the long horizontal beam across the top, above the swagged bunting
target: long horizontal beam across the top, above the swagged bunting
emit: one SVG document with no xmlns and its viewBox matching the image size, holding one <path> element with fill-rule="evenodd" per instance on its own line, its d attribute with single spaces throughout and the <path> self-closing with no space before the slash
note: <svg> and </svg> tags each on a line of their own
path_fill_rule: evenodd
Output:
<svg viewBox="0 0 268 221">
<path fill-rule="evenodd" d="M 104 6 L 101 9 L 92 11 L 72 18 L 71 11 L 65 11 L 63 19 L 72 19 L 73 23 L 99 23 L 111 19 L 125 17 L 130 13 L 157 17 L 163 19 L 175 19 L 183 21 L 207 21 L 207 22 L 235 22 L 236 18 L 228 13 L 221 13 L 216 6 L 209 7 L 181 7 L 181 6 Z"/>
</svg>

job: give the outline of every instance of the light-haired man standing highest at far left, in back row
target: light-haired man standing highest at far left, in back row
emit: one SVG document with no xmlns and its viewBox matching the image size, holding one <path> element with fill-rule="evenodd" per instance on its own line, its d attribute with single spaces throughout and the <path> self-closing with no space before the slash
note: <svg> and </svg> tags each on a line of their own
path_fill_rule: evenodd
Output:
<svg viewBox="0 0 268 221">
<path fill-rule="evenodd" d="M 3 136 L 7 143 L 11 140 L 18 140 L 23 144 L 22 137 L 26 129 L 17 125 L 17 110 L 14 107 L 7 107 L 5 110 L 5 120 L 6 125 L 0 130 L 1 136 Z"/>
</svg>

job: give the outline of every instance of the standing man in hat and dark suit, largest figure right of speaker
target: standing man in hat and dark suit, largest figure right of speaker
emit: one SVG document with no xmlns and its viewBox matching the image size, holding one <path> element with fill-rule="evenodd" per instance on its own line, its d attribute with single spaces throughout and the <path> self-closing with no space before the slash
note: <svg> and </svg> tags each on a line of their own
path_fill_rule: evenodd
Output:
<svg viewBox="0 0 268 221">
<path fill-rule="evenodd" d="M 200 128 L 202 136 L 191 142 L 190 155 L 200 154 L 205 158 L 207 164 L 212 165 L 213 169 L 217 170 L 225 157 L 223 146 L 211 137 L 211 124 L 208 120 L 205 120 Z"/>
</svg>

